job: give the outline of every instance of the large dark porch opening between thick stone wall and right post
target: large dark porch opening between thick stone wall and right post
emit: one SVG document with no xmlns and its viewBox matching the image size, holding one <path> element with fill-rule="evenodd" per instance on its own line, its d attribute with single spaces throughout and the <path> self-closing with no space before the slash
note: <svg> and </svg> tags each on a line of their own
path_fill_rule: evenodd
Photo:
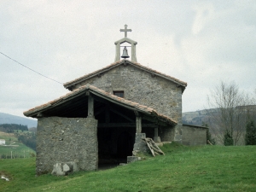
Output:
<svg viewBox="0 0 256 192">
<path fill-rule="evenodd" d="M 100 103 L 95 110 L 98 120 L 98 165 L 127 163 L 135 141 L 135 113 L 111 102 Z"/>
</svg>

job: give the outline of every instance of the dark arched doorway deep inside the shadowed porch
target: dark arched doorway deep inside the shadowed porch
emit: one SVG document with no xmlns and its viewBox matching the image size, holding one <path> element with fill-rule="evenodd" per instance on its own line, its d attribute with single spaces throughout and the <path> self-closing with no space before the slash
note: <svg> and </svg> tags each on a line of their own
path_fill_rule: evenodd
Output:
<svg viewBox="0 0 256 192">
<path fill-rule="evenodd" d="M 133 149 L 131 134 L 127 131 L 119 134 L 117 143 L 117 157 L 119 159 L 127 159 L 127 156 L 131 156 Z"/>
</svg>

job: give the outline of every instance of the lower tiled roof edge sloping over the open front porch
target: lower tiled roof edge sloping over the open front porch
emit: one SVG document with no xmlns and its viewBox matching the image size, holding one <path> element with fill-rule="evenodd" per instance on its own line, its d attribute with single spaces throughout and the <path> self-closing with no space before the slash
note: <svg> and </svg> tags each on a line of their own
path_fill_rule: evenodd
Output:
<svg viewBox="0 0 256 192">
<path fill-rule="evenodd" d="M 155 116 L 160 121 L 167 122 L 168 124 L 171 124 L 171 125 L 177 124 L 177 121 L 167 117 L 164 114 L 158 113 L 156 110 L 154 110 L 154 108 L 148 108 L 147 106 L 140 105 L 137 102 L 131 102 L 131 101 L 125 100 L 124 98 L 121 98 L 119 96 L 114 96 L 113 94 L 108 93 L 104 90 L 100 90 L 90 84 L 81 86 L 78 89 L 67 93 L 65 96 L 61 96 L 60 98 L 55 99 L 51 102 L 47 102 L 47 103 L 45 103 L 41 106 L 38 106 L 36 108 L 29 109 L 28 111 L 24 112 L 24 115 L 26 117 L 32 117 L 35 115 L 35 113 L 43 112 L 49 108 L 55 107 L 56 105 L 60 104 L 61 102 L 66 102 L 65 100 L 67 100 L 67 98 L 70 99 L 73 96 L 79 96 L 80 94 L 84 94 L 84 91 L 86 91 L 86 90 L 89 90 L 92 94 L 95 94 L 96 96 L 101 96 L 102 98 L 105 97 L 106 99 L 108 99 L 108 101 L 115 102 L 125 108 L 137 110 L 138 112 L 141 112 L 141 113 L 147 113 L 151 116 Z"/>
</svg>

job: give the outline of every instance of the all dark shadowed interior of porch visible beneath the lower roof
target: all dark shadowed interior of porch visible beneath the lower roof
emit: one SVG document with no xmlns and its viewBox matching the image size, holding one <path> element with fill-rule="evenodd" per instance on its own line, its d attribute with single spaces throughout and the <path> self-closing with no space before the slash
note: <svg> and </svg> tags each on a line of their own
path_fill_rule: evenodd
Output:
<svg viewBox="0 0 256 192">
<path fill-rule="evenodd" d="M 132 155 L 137 132 L 137 114 L 131 108 L 110 102 L 100 96 L 93 97 L 93 117 L 98 120 L 98 166 L 115 166 L 126 163 Z M 81 94 L 65 103 L 48 109 L 44 116 L 66 118 L 87 118 L 90 108 L 89 96 Z M 143 132 L 154 137 L 155 124 L 150 119 L 142 119 Z"/>
</svg>

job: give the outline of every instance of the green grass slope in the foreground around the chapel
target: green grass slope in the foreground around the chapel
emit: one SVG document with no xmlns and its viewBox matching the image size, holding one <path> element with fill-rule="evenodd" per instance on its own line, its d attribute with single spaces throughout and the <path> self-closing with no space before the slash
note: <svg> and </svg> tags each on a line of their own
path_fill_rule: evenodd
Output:
<svg viewBox="0 0 256 192">
<path fill-rule="evenodd" d="M 166 155 L 99 172 L 35 177 L 35 159 L 0 160 L 0 191 L 256 191 L 256 146 L 162 148 Z"/>
</svg>

